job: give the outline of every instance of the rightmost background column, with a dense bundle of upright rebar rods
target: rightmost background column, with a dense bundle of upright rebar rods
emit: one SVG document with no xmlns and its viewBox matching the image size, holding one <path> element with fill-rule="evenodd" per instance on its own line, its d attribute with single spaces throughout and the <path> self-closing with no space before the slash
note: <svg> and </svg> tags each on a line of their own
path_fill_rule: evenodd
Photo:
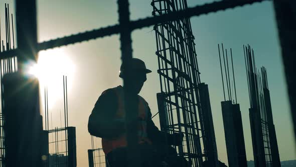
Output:
<svg viewBox="0 0 296 167">
<path fill-rule="evenodd" d="M 280 166 L 266 69 L 257 71 L 254 50 L 243 46 L 249 89 L 249 117 L 255 167 Z"/>
</svg>

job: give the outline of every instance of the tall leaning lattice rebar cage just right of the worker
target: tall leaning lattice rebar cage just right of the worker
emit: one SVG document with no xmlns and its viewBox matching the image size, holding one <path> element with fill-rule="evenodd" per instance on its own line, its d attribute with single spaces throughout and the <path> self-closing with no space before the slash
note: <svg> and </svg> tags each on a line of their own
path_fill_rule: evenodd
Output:
<svg viewBox="0 0 296 167">
<path fill-rule="evenodd" d="M 153 0 L 151 5 L 154 17 L 188 9 L 187 1 Z M 200 138 L 204 134 L 197 116 L 200 72 L 190 20 L 183 18 L 156 24 L 154 30 L 160 87 L 168 104 L 169 122 L 161 129 L 170 133 L 184 133 L 183 146 L 176 146 L 177 152 L 193 166 L 200 166 L 203 161 Z"/>
</svg>

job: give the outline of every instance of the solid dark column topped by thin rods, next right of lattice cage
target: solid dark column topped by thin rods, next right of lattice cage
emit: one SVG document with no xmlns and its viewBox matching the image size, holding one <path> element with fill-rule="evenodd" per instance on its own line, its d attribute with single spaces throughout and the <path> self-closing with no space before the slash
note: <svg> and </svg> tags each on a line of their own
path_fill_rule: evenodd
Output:
<svg viewBox="0 0 296 167">
<path fill-rule="evenodd" d="M 225 49 L 224 51 L 224 47 L 222 44 L 223 59 L 221 58 L 219 44 L 218 44 L 218 51 L 219 51 L 220 69 L 221 69 L 221 76 L 222 76 L 223 95 L 224 95 L 224 101 L 221 102 L 221 108 L 222 108 L 228 166 L 229 167 L 236 167 L 236 166 L 247 167 L 242 118 L 241 118 L 240 106 L 237 103 L 237 97 L 236 97 L 232 49 L 230 48 L 231 65 L 232 65 L 232 70 L 230 69 L 230 74 L 232 72 L 232 76 L 229 75 L 229 65 L 228 65 L 229 61 L 228 61 L 227 49 Z M 224 65 L 224 68 L 222 67 L 223 65 Z M 233 87 L 234 90 L 231 89 L 231 86 L 234 86 Z"/>
</svg>

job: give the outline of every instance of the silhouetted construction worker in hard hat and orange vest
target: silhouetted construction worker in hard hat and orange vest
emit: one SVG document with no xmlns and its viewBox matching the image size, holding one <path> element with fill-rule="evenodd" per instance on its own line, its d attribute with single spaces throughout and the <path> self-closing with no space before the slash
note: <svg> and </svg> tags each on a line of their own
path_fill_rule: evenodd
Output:
<svg viewBox="0 0 296 167">
<path fill-rule="evenodd" d="M 138 94 L 146 80 L 145 63 L 132 58 L 133 76 L 132 91 Z M 125 76 L 124 66 L 120 66 L 119 77 Z M 125 134 L 125 112 L 123 87 L 108 89 L 97 100 L 88 120 L 88 131 L 91 135 L 102 138 L 102 148 L 111 167 L 127 166 L 127 142 Z M 138 97 L 138 148 L 142 166 L 187 166 L 185 158 L 177 156 L 176 150 L 170 145 L 181 145 L 183 134 L 165 133 L 160 131 L 151 119 L 148 103 Z M 162 163 L 162 165 L 161 165 Z"/>
</svg>

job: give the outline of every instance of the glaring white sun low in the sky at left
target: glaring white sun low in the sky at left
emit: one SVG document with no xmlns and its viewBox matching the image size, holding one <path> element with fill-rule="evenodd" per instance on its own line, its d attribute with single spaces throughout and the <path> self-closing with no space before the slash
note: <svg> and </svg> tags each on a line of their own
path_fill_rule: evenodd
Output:
<svg viewBox="0 0 296 167">
<path fill-rule="evenodd" d="M 48 88 L 49 109 L 58 101 L 63 100 L 63 75 L 67 76 L 68 94 L 72 88 L 75 66 L 68 54 L 62 48 L 40 51 L 37 64 L 30 64 L 29 74 L 39 79 L 41 96 Z"/>
</svg>

